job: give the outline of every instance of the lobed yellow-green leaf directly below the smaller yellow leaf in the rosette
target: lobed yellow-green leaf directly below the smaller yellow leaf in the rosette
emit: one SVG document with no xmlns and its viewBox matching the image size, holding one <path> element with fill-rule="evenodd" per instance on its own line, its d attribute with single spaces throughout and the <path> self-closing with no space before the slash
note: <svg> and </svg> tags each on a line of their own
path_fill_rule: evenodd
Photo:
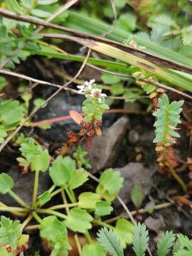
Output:
<svg viewBox="0 0 192 256">
<path fill-rule="evenodd" d="M 92 216 L 86 210 L 72 208 L 70 214 L 64 220 L 65 225 L 75 232 L 85 233 L 92 228 Z"/>
</svg>

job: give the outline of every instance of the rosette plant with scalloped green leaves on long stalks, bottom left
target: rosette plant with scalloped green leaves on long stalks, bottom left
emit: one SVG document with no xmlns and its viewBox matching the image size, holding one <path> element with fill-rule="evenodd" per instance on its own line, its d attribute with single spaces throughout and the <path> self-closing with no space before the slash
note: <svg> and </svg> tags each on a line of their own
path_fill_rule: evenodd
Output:
<svg viewBox="0 0 192 256">
<path fill-rule="evenodd" d="M 1 212 L 12 213 L 18 218 L 26 216 L 23 223 L 21 220 L 13 221 L 1 216 L 0 250 L 4 255 L 17 255 L 18 252 L 26 250 L 30 238 L 22 233 L 31 228 L 40 230 L 43 246 L 52 256 L 68 255 L 68 250 L 71 249 L 68 230 L 81 233 L 87 238 L 88 243 L 82 247 L 82 255 L 95 253 L 95 248 L 97 248 L 96 255 L 107 255 L 106 250 L 91 238 L 92 225 L 113 230 L 124 248 L 132 243 L 132 223 L 119 218 L 113 226 L 102 219 L 112 213 L 112 201 L 122 188 L 123 178 L 119 171 L 105 170 L 95 191 L 85 191 L 78 195 L 75 189 L 83 186 L 89 179 L 89 174 L 82 168 L 82 163 L 87 164 L 87 162 L 82 158 L 85 154 L 82 154 L 80 147 L 78 153 L 74 154 L 77 161 L 70 156 L 58 156 L 52 159 L 48 150 L 36 144 L 32 138 L 26 138 L 25 142 L 21 143 L 20 151 L 21 157 L 17 159 L 19 165 L 34 172 L 33 197 L 31 204 L 24 202 L 14 192 L 14 181 L 11 176 L 0 174 L 0 193 L 9 194 L 19 205 L 12 207 L 0 202 Z M 82 156 L 77 157 L 80 154 Z M 38 195 L 39 174 L 47 170 L 53 185 Z M 63 202 L 55 205 L 53 197 L 58 194 L 63 198 Z M 48 202 L 49 206 L 45 207 Z M 48 216 L 42 218 L 41 215 Z M 32 219 L 36 220 L 37 225 L 28 225 Z"/>
</svg>

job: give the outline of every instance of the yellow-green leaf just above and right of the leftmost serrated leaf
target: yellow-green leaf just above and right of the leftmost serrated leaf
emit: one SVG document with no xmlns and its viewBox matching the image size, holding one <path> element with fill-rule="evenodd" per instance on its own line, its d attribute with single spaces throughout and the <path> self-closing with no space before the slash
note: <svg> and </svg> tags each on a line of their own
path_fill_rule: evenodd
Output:
<svg viewBox="0 0 192 256">
<path fill-rule="evenodd" d="M 114 228 L 114 233 L 117 235 L 121 241 L 122 247 L 125 248 L 126 245 L 132 243 L 132 233 L 134 231 L 134 225 L 128 220 L 121 218 L 117 220 L 117 223 Z"/>
</svg>

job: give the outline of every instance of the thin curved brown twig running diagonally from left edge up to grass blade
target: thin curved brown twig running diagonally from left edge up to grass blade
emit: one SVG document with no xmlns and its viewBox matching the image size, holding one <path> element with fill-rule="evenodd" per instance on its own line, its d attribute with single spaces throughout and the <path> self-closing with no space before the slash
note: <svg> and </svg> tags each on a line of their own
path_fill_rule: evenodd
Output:
<svg viewBox="0 0 192 256">
<path fill-rule="evenodd" d="M 89 58 L 90 56 L 90 52 L 91 50 L 89 49 L 87 51 L 87 56 L 85 58 L 85 60 L 83 61 L 82 65 L 80 66 L 80 69 L 78 70 L 78 73 L 74 76 L 73 80 L 75 80 L 76 78 L 78 78 L 78 76 L 80 75 L 80 73 L 82 72 L 83 68 L 85 68 L 85 64 L 87 62 L 87 59 Z M 0 70 L 1 71 L 1 70 Z M 23 127 L 24 124 L 26 124 L 26 122 L 28 122 L 29 119 L 31 119 L 31 117 L 33 117 L 34 114 L 36 114 L 36 112 L 38 112 L 38 110 L 41 110 L 42 107 L 44 107 L 46 104 L 48 104 L 48 102 L 50 100 L 53 99 L 53 97 L 55 97 L 55 95 L 58 95 L 58 93 L 67 88 L 68 85 L 70 85 L 73 80 L 70 80 L 68 82 L 65 83 L 65 85 L 61 86 L 58 90 L 56 90 L 53 95 L 50 95 L 50 97 L 48 97 L 48 99 L 43 102 L 43 104 L 38 107 L 36 110 L 34 110 L 33 112 L 31 112 L 31 114 L 28 115 L 28 117 L 15 129 L 15 131 L 8 137 L 6 138 L 6 140 L 1 144 L 0 146 L 0 152 L 4 149 L 4 147 L 6 146 L 6 144 L 8 144 L 10 142 L 10 140 L 21 130 L 21 128 Z M 37 81 L 34 81 L 34 82 L 37 82 Z M 69 90 L 69 89 L 68 89 Z M 70 89 L 71 90 L 71 89 Z"/>
</svg>

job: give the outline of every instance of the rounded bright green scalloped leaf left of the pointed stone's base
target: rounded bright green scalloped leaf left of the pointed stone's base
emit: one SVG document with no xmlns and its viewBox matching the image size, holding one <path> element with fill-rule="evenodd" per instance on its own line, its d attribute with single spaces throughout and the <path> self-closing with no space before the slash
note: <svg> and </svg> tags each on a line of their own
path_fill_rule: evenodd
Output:
<svg viewBox="0 0 192 256">
<path fill-rule="evenodd" d="M 70 182 L 75 171 L 75 161 L 69 156 L 58 158 L 49 169 L 50 177 L 56 186 L 66 186 Z"/>
</svg>

